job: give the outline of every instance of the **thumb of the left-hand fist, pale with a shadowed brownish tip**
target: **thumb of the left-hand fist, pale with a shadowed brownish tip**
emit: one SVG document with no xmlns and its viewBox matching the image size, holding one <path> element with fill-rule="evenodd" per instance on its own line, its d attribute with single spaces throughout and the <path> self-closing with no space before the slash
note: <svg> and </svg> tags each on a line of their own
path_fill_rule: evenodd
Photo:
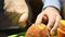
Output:
<svg viewBox="0 0 65 37">
<path fill-rule="evenodd" d="M 24 13 L 20 20 L 18 20 L 18 25 L 20 27 L 25 27 L 27 24 L 27 18 L 28 18 L 28 14 L 27 13 Z"/>
</svg>

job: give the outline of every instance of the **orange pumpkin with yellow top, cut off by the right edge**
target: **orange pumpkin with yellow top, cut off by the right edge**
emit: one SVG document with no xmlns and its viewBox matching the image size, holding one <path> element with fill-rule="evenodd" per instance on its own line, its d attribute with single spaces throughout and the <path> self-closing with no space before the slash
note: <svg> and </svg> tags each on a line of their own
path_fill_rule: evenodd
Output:
<svg viewBox="0 0 65 37">
<path fill-rule="evenodd" d="M 58 37 L 65 37 L 65 20 L 61 21 L 61 24 L 57 28 L 57 35 Z"/>
</svg>

